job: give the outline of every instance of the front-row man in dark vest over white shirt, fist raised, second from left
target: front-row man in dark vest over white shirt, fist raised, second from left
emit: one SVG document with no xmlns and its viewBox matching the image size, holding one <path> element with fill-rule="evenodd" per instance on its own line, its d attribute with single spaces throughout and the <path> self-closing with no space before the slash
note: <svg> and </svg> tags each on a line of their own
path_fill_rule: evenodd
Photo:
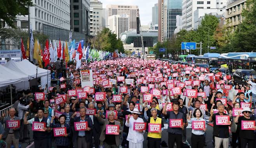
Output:
<svg viewBox="0 0 256 148">
<path fill-rule="evenodd" d="M 47 132 L 51 130 L 50 128 L 50 120 L 44 117 L 44 109 L 39 108 L 37 110 L 37 117 L 27 120 L 29 112 L 26 112 L 24 117 L 24 124 L 33 124 L 33 122 L 44 122 L 46 123 L 46 127 L 44 127 L 44 131 L 33 131 L 33 139 L 35 148 L 48 148 L 47 147 Z"/>
</svg>

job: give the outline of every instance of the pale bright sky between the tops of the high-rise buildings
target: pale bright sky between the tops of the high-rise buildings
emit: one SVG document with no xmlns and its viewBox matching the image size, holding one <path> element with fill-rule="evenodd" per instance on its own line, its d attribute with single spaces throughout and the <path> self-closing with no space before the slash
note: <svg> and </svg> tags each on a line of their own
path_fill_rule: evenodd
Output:
<svg viewBox="0 0 256 148">
<path fill-rule="evenodd" d="M 152 21 L 152 7 L 158 0 L 99 0 L 103 4 L 103 8 L 107 5 L 137 5 L 140 11 L 140 23 L 148 25 Z"/>
</svg>

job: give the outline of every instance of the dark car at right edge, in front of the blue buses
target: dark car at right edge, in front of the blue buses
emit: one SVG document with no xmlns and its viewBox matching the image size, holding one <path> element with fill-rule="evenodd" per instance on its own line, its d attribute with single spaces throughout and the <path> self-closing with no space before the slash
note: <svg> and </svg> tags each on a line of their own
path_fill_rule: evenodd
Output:
<svg viewBox="0 0 256 148">
<path fill-rule="evenodd" d="M 256 72 L 251 69 L 237 69 L 233 73 L 234 81 L 247 81 L 249 77 L 252 75 L 254 79 L 256 79 Z"/>
</svg>

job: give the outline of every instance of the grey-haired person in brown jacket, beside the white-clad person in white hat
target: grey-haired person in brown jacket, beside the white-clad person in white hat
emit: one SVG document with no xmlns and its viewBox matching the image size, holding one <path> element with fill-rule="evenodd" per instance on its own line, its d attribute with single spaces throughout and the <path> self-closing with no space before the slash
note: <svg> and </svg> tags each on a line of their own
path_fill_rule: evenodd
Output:
<svg viewBox="0 0 256 148">
<path fill-rule="evenodd" d="M 107 119 L 102 119 L 100 114 L 98 114 L 98 121 L 103 125 L 102 132 L 100 134 L 100 141 L 104 142 L 105 148 L 118 148 L 120 145 L 119 141 L 119 135 L 122 133 L 123 128 L 119 121 L 115 120 L 116 113 L 114 111 L 109 111 L 107 114 Z M 113 134 L 106 134 L 106 125 L 119 125 L 119 130 L 117 132 L 119 133 L 116 135 Z"/>
</svg>

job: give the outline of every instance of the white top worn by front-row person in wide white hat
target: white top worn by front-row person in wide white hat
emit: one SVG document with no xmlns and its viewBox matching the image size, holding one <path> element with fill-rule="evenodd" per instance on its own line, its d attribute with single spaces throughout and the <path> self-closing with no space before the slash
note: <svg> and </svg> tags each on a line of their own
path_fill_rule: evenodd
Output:
<svg viewBox="0 0 256 148">
<path fill-rule="evenodd" d="M 128 133 L 128 136 L 127 136 L 127 141 L 130 141 L 132 143 L 141 143 L 144 141 L 144 137 L 143 137 L 143 133 L 139 133 L 139 131 L 133 131 L 133 123 L 134 122 L 141 122 L 141 123 L 144 123 L 143 119 L 141 119 L 140 117 L 138 117 L 137 120 L 134 120 L 134 118 L 130 118 L 129 119 L 129 123 L 125 122 L 125 125 L 127 127 L 129 127 L 129 133 Z"/>
</svg>

